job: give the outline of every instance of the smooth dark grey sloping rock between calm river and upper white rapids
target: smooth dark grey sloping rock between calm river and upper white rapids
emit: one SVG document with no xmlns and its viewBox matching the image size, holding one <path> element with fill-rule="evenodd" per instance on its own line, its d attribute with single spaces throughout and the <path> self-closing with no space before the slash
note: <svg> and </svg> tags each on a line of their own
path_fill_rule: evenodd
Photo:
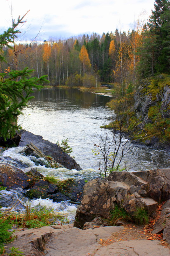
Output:
<svg viewBox="0 0 170 256">
<path fill-rule="evenodd" d="M 81 170 L 76 161 L 68 154 L 64 153 L 57 144 L 44 140 L 42 136 L 35 135 L 31 132 L 21 130 L 21 140 L 19 146 L 26 146 L 33 143 L 46 156 L 51 156 L 56 162 L 60 163 L 67 169 Z"/>
</svg>

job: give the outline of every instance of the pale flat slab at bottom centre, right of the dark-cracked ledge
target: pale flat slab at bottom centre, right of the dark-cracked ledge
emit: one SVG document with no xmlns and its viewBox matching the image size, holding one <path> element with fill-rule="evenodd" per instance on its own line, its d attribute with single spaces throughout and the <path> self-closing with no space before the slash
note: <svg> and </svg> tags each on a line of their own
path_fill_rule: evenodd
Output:
<svg viewBox="0 0 170 256">
<path fill-rule="evenodd" d="M 45 246 L 46 256 L 87 256 L 100 247 L 99 239 L 107 239 L 123 227 L 100 227 L 95 229 L 71 228 L 53 234 Z"/>
</svg>

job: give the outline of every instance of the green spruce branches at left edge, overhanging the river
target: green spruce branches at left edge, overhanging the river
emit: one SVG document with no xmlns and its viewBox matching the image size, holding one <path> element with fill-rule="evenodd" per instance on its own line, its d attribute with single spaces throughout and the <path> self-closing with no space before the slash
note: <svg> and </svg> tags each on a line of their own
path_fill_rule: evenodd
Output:
<svg viewBox="0 0 170 256">
<path fill-rule="evenodd" d="M 19 16 L 17 22 L 15 23 L 14 20 L 12 27 L 0 35 L 0 50 L 4 46 L 12 48 L 9 43 L 13 42 L 13 39 L 20 33 L 17 26 L 25 22 L 24 17 L 25 15 L 22 18 Z M 2 55 L 0 55 L 0 60 L 6 61 Z M 30 77 L 34 70 L 29 70 L 27 67 L 23 70 L 9 71 L 0 73 L 0 137 L 4 141 L 15 136 L 16 131 L 20 129 L 17 125 L 17 118 L 22 113 L 22 108 L 31 99 L 32 88 L 40 89 L 40 84 L 47 82 L 46 76 Z"/>
</svg>

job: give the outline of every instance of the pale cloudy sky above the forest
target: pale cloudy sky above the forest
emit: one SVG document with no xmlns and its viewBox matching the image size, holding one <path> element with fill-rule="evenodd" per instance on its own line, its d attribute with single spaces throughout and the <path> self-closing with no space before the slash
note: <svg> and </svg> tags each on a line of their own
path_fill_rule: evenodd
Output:
<svg viewBox="0 0 170 256">
<path fill-rule="evenodd" d="M 93 32 L 102 35 L 116 28 L 127 32 L 141 12 L 149 18 L 153 4 L 154 0 L 3 0 L 0 33 L 11 26 L 11 10 L 14 19 L 30 10 L 21 28 L 26 31 L 22 40 L 32 40 L 39 31 L 40 41 Z"/>
</svg>

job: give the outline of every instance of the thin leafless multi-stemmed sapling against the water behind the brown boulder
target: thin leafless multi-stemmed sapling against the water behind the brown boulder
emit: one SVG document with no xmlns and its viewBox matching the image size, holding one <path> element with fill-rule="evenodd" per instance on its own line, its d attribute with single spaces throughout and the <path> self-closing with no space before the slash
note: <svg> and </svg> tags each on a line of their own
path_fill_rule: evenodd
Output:
<svg viewBox="0 0 170 256">
<path fill-rule="evenodd" d="M 97 149 L 93 152 L 98 155 L 100 161 L 100 175 L 104 171 L 105 177 L 112 171 L 120 171 L 120 163 L 125 158 L 126 153 L 132 148 L 130 145 L 131 131 L 126 132 L 126 102 L 119 100 L 115 105 L 116 118 L 112 117 L 112 128 L 108 129 L 104 125 L 99 136 L 99 145 L 94 144 Z M 126 164 L 124 166 L 126 169 Z M 123 170 L 123 169 L 121 169 Z"/>
</svg>

